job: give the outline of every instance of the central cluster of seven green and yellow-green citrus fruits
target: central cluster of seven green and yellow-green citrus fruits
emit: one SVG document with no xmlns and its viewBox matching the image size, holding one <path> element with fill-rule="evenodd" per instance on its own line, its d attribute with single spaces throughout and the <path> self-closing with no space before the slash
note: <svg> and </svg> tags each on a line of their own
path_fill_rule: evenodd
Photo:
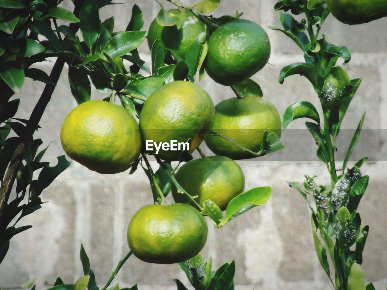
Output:
<svg viewBox="0 0 387 290">
<path fill-rule="evenodd" d="M 169 13 L 180 19 L 180 29 L 161 26 L 155 19 L 148 32 L 149 48 L 158 39 L 163 42 L 166 63 L 176 61 L 176 56 L 184 59 L 192 42 L 207 31 L 192 12 L 174 9 Z M 266 32 L 249 20 L 221 25 L 207 41 L 205 69 L 223 85 L 250 78 L 270 56 Z M 157 144 L 187 143 L 192 153 L 205 140 L 216 155 L 190 160 L 178 169 L 177 183 L 171 186 L 176 203 L 144 206 L 127 230 L 128 245 L 137 258 L 150 263 L 185 261 L 201 251 L 207 238 L 207 224 L 199 212 L 203 203 L 211 200 L 226 210 L 245 187 L 243 171 L 234 160 L 255 156 L 209 131 L 257 152 L 265 130 L 281 134 L 281 120 L 276 108 L 260 96 L 231 98 L 214 107 L 205 90 L 182 80 L 154 90 L 140 107 L 138 118 L 137 125 L 126 109 L 106 101 L 84 102 L 66 117 L 62 146 L 80 164 L 111 174 L 128 169 L 140 154 L 152 154 L 159 162 L 179 160 L 182 150 Z M 149 142 L 155 146 L 148 148 Z"/>
</svg>

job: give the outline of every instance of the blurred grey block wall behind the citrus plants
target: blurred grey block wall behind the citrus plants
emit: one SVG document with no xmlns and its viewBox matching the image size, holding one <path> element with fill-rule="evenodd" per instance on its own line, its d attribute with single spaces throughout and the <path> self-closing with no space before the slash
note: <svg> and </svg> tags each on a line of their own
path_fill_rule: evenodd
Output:
<svg viewBox="0 0 387 290">
<path fill-rule="evenodd" d="M 118 1 L 119 2 L 119 1 Z M 101 20 L 114 15 L 115 31 L 125 30 L 130 20 L 132 5 L 137 3 L 144 15 L 144 29 L 158 13 L 160 7 L 152 0 L 125 0 L 124 5 L 110 5 L 101 10 Z M 165 3 L 164 3 L 165 2 Z M 165 7 L 168 5 L 166 1 Z M 184 3 L 193 4 L 197 1 Z M 278 12 L 273 10 L 274 0 L 222 0 L 212 13 L 214 16 L 235 15 L 243 12 L 243 19 L 260 24 L 269 34 L 272 53 L 266 65 L 253 79 L 264 92 L 264 98 L 277 107 L 280 115 L 290 104 L 306 100 L 319 107 L 319 101 L 310 83 L 303 77 L 286 78 L 283 85 L 277 82 L 281 68 L 303 61 L 301 51 L 281 32 L 267 26 L 279 26 Z M 70 0 L 61 4 L 72 10 Z M 348 26 L 331 15 L 325 21 L 322 33 L 328 42 L 347 46 L 352 60 L 344 67 L 351 78 L 362 77 L 363 82 L 349 107 L 343 129 L 355 129 L 361 114 L 366 118 L 356 157 L 370 156 L 363 165 L 363 174 L 370 176 L 368 189 L 360 203 L 363 225 L 370 225 L 370 234 L 363 255 L 362 268 L 366 281 L 376 289 L 385 289 L 387 282 L 387 18 L 361 26 Z M 150 61 L 146 41 L 139 49 L 141 58 Z M 341 59 L 339 61 L 342 61 Z M 50 72 L 53 62 L 46 61 L 39 68 Z M 198 82 L 199 83 L 199 82 Z M 205 76 L 199 83 L 215 104 L 233 97 L 229 87 L 216 84 Z M 28 118 L 36 104 L 43 83 L 26 79 L 22 92 L 14 96 L 21 99 L 16 115 Z M 102 99 L 102 94 L 92 91 L 92 99 Z M 56 164 L 56 157 L 65 154 L 59 139 L 62 122 L 76 106 L 68 84 L 67 68 L 48 108 L 43 115 L 35 138 L 42 138 L 46 147 L 43 161 Z M 301 196 L 286 181 L 304 180 L 304 174 L 316 175 L 317 182 L 329 184 L 325 165 L 317 161 L 315 142 L 297 120 L 283 131 L 287 145 L 280 152 L 266 157 L 238 162 L 246 177 L 246 188 L 271 186 L 272 196 L 267 204 L 250 210 L 222 229 L 209 223 L 204 259 L 211 254 L 214 267 L 225 262 L 236 262 L 235 285 L 237 290 L 322 290 L 331 289 L 317 260 L 310 229 L 310 210 Z M 348 146 L 349 133 L 338 141 L 339 152 Z M 349 131 L 348 131 L 349 132 Z M 353 133 L 353 131 L 351 131 Z M 351 134 L 352 134 L 351 133 Z M 302 142 L 300 142 L 302 136 Z M 51 142 L 51 143 L 50 143 Z M 210 154 L 208 150 L 204 151 Z M 306 155 L 303 155 L 306 154 Z M 349 165 L 352 165 L 350 162 Z M 155 162 L 152 166 L 156 169 Z M 341 168 L 338 162 L 336 165 Z M 126 229 L 132 215 L 142 206 L 152 203 L 148 179 L 141 169 L 133 175 L 127 172 L 102 175 L 89 171 L 76 162 L 63 172 L 42 194 L 48 201 L 42 209 L 22 219 L 20 225 L 31 224 L 29 229 L 16 235 L 0 265 L 0 288 L 14 289 L 36 279 L 38 289 L 48 288 L 60 276 L 65 283 L 73 283 L 82 276 L 79 259 L 82 243 L 89 255 L 97 283 L 104 284 L 111 270 L 128 251 Z M 171 197 L 168 196 L 171 201 Z M 120 286 L 139 285 L 140 290 L 176 289 L 172 279 L 178 278 L 188 285 L 185 274 L 176 265 L 147 264 L 134 256 L 116 277 Z"/>
</svg>

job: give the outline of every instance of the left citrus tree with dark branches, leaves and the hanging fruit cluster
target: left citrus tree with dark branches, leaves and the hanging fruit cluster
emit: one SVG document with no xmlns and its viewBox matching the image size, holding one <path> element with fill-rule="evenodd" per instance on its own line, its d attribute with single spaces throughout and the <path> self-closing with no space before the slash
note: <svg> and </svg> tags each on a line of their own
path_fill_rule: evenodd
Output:
<svg viewBox="0 0 387 290">
<path fill-rule="evenodd" d="M 67 64 L 78 106 L 63 122 L 63 150 L 101 174 L 141 168 L 154 200 L 128 221 L 129 251 L 102 289 L 110 287 L 132 254 L 148 263 L 178 263 L 195 289 L 233 289 L 235 263 L 213 271 L 211 256 L 204 261 L 200 251 L 207 239 L 206 219 L 221 228 L 271 195 L 269 186 L 246 190 L 234 161 L 284 147 L 279 114 L 250 79 L 269 59 L 266 32 L 238 12 L 206 16 L 219 4 L 207 0 L 192 7 L 171 0 L 172 10 L 157 1 L 160 11 L 147 29 L 134 5 L 125 31 L 115 30 L 114 17 L 99 18 L 99 9 L 111 0 L 74 0 L 72 12 L 60 2 L 0 0 L 0 261 L 12 237 L 31 227 L 17 227 L 19 220 L 42 206 L 42 191 L 70 164 L 63 155 L 50 167 L 42 161 L 46 149 L 38 150 L 43 142 L 33 138 Z M 150 64 L 137 51 L 144 41 Z M 31 68 L 48 57 L 56 57 L 50 75 Z M 214 106 L 194 83 L 205 72 L 235 97 Z M 17 118 L 20 100 L 14 97 L 26 77 L 46 84 L 29 120 Z M 91 85 L 106 97 L 91 100 Z M 214 156 L 204 156 L 203 142 Z M 194 150 L 201 158 L 193 160 Z M 158 162 L 157 170 L 149 158 Z M 176 203 L 167 205 L 170 192 Z M 52 289 L 98 289 L 83 246 L 80 259 L 84 276 L 75 284 L 58 278 Z M 22 287 L 35 285 L 30 281 Z"/>
</svg>

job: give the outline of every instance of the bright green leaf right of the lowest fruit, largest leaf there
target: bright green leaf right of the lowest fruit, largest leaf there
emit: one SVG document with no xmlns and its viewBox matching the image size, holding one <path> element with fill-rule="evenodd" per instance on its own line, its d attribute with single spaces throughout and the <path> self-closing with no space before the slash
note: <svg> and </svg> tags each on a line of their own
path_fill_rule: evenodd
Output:
<svg viewBox="0 0 387 290">
<path fill-rule="evenodd" d="M 256 187 L 233 198 L 227 205 L 224 223 L 246 212 L 254 206 L 263 205 L 269 200 L 271 187 Z"/>
</svg>

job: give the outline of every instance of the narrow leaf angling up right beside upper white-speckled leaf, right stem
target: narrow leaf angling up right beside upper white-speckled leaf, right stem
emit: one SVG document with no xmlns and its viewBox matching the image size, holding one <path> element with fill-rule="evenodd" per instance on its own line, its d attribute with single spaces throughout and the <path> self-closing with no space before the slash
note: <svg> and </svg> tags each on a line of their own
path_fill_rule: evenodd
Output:
<svg viewBox="0 0 387 290">
<path fill-rule="evenodd" d="M 347 112 L 349 104 L 352 101 L 360 83 L 361 83 L 361 78 L 351 80 L 351 85 L 352 85 L 351 94 L 349 94 L 342 100 L 340 106 L 332 107 L 330 116 L 329 116 L 330 134 L 332 136 L 336 137 L 339 134 L 342 120 L 344 119 L 344 116 Z"/>
</svg>

